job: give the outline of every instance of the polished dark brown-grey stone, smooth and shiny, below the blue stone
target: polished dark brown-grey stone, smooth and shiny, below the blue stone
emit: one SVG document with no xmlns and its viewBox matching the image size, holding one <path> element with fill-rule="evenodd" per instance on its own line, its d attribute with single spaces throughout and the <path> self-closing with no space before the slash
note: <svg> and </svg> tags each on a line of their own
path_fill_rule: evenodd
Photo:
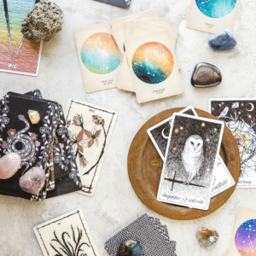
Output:
<svg viewBox="0 0 256 256">
<path fill-rule="evenodd" d="M 222 76 L 218 67 L 209 63 L 198 63 L 192 73 L 191 84 L 198 88 L 207 88 L 221 83 Z"/>
</svg>

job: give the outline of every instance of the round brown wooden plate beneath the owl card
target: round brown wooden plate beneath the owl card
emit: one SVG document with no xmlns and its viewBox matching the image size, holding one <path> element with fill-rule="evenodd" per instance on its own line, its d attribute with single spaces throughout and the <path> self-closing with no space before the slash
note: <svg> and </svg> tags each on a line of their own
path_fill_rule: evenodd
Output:
<svg viewBox="0 0 256 256">
<path fill-rule="evenodd" d="M 214 196 L 207 211 L 177 207 L 156 200 L 163 161 L 148 137 L 147 130 L 181 110 L 183 108 L 172 108 L 158 113 L 137 132 L 128 154 L 128 172 L 133 189 L 148 208 L 166 218 L 187 220 L 201 218 L 218 210 L 230 198 L 236 185 Z M 217 119 L 211 113 L 203 110 L 195 109 L 195 111 L 201 117 Z M 237 183 L 240 175 L 240 156 L 236 141 L 226 126 L 224 126 L 220 155 Z"/>
</svg>

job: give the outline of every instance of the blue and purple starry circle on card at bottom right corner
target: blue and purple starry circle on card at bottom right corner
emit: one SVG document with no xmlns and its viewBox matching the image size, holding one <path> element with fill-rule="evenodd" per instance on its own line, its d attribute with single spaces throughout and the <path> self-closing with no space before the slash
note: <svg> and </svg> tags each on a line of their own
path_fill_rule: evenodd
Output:
<svg viewBox="0 0 256 256">
<path fill-rule="evenodd" d="M 256 219 L 250 219 L 236 230 L 235 245 L 242 256 L 256 255 Z"/>
</svg>

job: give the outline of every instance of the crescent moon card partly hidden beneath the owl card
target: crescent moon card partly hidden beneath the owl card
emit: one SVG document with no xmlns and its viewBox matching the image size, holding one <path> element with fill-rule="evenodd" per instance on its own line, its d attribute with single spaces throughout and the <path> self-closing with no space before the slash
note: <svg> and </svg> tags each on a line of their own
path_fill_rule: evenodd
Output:
<svg viewBox="0 0 256 256">
<path fill-rule="evenodd" d="M 192 106 L 184 108 L 179 113 L 197 116 L 197 113 Z M 160 157 L 163 161 L 165 160 L 166 147 L 170 135 L 171 125 L 172 117 L 165 119 L 159 124 L 154 125 L 148 129 L 148 136 L 150 137 L 154 147 L 160 154 Z M 214 170 L 212 197 L 218 195 L 226 189 L 230 189 L 230 187 L 232 187 L 234 184 L 235 181 L 234 178 L 230 175 L 229 169 L 227 166 L 225 166 L 221 156 L 218 156 L 218 164 L 216 166 L 216 170 Z"/>
</svg>

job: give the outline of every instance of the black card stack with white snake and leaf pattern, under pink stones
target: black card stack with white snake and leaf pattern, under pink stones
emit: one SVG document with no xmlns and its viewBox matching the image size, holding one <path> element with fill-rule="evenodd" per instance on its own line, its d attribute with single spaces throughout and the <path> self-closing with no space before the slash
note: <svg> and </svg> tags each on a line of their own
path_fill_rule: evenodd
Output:
<svg viewBox="0 0 256 256">
<path fill-rule="evenodd" d="M 32 125 L 28 110 L 38 111 L 40 121 Z M 38 90 L 20 95 L 9 92 L 0 103 L 0 157 L 20 154 L 21 167 L 15 176 L 0 180 L 0 193 L 41 201 L 81 188 L 73 148 L 61 105 L 42 99 Z M 29 169 L 44 169 L 45 186 L 39 195 L 26 193 L 19 179 Z"/>
</svg>

